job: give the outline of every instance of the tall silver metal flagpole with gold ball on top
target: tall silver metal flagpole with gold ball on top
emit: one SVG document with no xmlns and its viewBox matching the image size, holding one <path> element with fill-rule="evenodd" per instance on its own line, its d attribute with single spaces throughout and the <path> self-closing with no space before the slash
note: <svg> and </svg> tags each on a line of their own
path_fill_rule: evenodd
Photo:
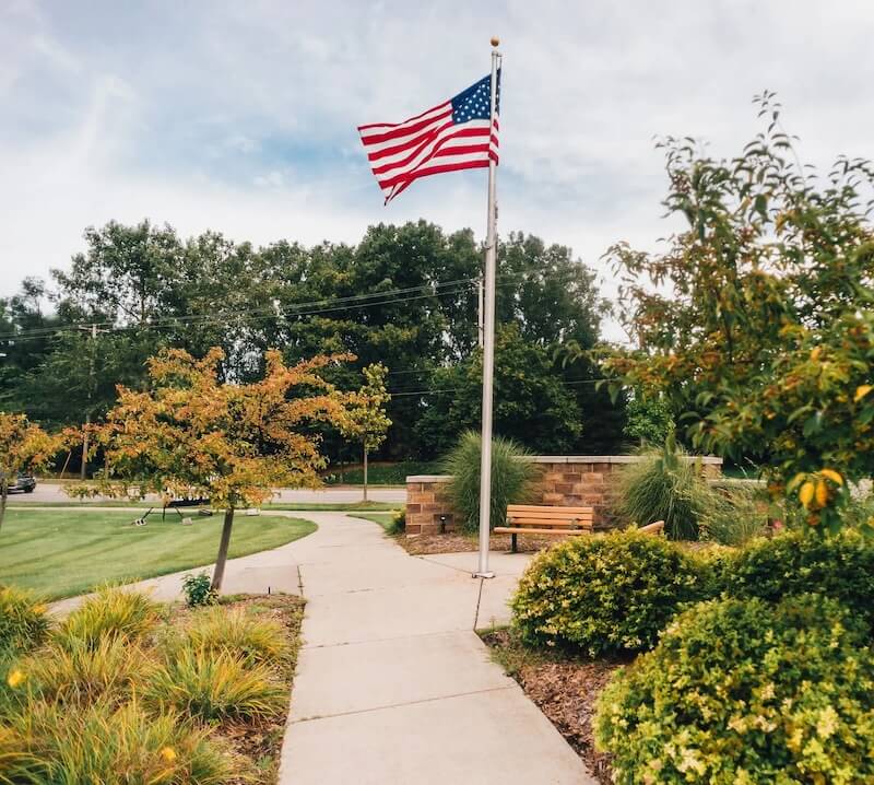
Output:
<svg viewBox="0 0 874 785">
<path fill-rule="evenodd" d="M 492 38 L 492 114 L 491 126 L 495 126 L 498 68 L 501 55 L 500 42 Z M 492 142 L 489 139 L 489 147 Z M 497 204 L 495 201 L 496 165 L 488 160 L 488 223 L 485 248 L 485 286 L 483 291 L 483 427 L 480 458 L 480 567 L 474 577 L 493 578 L 488 571 L 488 535 L 492 509 L 492 389 L 495 375 L 495 268 L 497 267 Z"/>
</svg>

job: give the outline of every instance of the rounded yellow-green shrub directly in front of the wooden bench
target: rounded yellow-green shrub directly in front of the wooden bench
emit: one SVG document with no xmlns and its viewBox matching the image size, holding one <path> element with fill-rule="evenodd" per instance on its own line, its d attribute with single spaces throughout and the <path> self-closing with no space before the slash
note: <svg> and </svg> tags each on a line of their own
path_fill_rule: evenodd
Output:
<svg viewBox="0 0 874 785">
<path fill-rule="evenodd" d="M 529 565 L 511 601 L 513 625 L 530 645 L 590 656 L 646 649 L 683 602 L 706 590 L 699 560 L 660 537 L 575 537 Z"/>
</svg>

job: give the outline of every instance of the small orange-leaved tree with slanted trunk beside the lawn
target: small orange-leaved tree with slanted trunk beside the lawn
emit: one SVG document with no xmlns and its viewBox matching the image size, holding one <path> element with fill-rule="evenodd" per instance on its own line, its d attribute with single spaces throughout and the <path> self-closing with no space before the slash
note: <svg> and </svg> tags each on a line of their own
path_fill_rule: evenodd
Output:
<svg viewBox="0 0 874 785">
<path fill-rule="evenodd" d="M 277 487 L 319 484 L 317 470 L 326 461 L 318 438 L 303 433 L 302 425 L 345 424 L 347 396 L 319 373 L 345 359 L 321 355 L 290 367 L 272 351 L 263 379 L 228 384 L 218 375 L 220 348 L 202 360 L 167 350 L 149 361 L 150 389 L 119 387 L 106 422 L 93 429 L 106 456 L 105 474 L 71 493 L 208 496 L 225 511 L 212 579 L 218 590 L 234 512 L 260 505 Z"/>
</svg>

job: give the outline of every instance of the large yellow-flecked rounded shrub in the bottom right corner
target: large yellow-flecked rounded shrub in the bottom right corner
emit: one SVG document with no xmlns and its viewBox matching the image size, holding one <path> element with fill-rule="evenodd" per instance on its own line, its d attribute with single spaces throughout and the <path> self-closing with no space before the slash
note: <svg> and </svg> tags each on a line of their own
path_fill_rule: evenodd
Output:
<svg viewBox="0 0 874 785">
<path fill-rule="evenodd" d="M 615 782 L 874 782 L 874 657 L 818 596 L 704 602 L 618 671 L 595 742 Z"/>
</svg>

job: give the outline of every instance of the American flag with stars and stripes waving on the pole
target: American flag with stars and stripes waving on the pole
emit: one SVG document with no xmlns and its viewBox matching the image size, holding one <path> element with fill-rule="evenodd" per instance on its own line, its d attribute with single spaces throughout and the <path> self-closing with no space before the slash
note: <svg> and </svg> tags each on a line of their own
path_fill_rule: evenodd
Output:
<svg viewBox="0 0 874 785">
<path fill-rule="evenodd" d="M 497 72 L 495 126 L 491 134 L 491 75 L 454 98 L 403 122 L 358 126 L 386 203 L 418 177 L 488 166 L 489 159 L 497 163 L 499 99 L 500 70 Z"/>
</svg>

